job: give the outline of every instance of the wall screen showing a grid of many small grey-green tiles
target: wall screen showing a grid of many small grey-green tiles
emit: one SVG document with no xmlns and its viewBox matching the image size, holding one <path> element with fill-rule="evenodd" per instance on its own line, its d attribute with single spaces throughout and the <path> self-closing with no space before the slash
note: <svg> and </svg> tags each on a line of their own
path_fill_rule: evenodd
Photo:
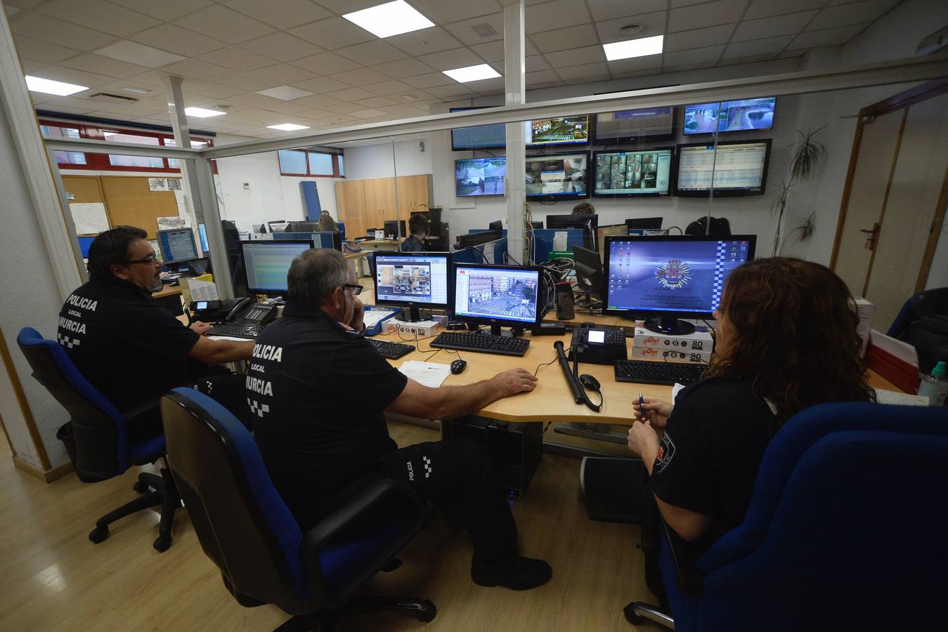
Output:
<svg viewBox="0 0 948 632">
<path fill-rule="evenodd" d="M 593 195 L 632 197 L 667 195 L 671 187 L 674 148 L 637 152 L 596 152 Z"/>
</svg>

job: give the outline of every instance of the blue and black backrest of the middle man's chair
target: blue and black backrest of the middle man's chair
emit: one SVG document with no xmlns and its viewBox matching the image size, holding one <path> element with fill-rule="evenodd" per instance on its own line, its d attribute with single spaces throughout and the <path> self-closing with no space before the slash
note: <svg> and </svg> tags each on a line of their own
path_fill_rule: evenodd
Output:
<svg viewBox="0 0 948 632">
<path fill-rule="evenodd" d="M 161 418 L 174 482 L 228 590 L 244 605 L 312 611 L 300 527 L 244 425 L 190 388 L 161 398 Z"/>
</svg>

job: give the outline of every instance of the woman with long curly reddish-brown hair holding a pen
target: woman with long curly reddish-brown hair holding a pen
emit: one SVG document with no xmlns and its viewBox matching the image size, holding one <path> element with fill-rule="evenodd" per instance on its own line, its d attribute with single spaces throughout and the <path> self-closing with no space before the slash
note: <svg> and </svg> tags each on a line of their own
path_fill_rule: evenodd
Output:
<svg viewBox="0 0 948 632">
<path fill-rule="evenodd" d="M 642 456 L 665 522 L 700 555 L 743 522 L 768 442 L 807 406 L 868 401 L 855 304 L 829 268 L 775 257 L 741 265 L 721 297 L 715 354 L 674 406 L 633 404 L 629 449 Z M 653 428 L 665 434 L 659 440 Z"/>
</svg>

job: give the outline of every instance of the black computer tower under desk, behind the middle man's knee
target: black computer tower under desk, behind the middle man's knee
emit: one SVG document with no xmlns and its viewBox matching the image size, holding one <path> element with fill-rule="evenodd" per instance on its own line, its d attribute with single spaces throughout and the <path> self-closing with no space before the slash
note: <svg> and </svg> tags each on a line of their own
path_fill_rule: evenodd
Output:
<svg viewBox="0 0 948 632">
<path fill-rule="evenodd" d="M 537 471 L 543 453 L 543 424 L 506 424 L 469 416 L 441 423 L 442 439 L 476 439 L 485 442 L 494 476 L 511 497 L 520 498 Z"/>
</svg>

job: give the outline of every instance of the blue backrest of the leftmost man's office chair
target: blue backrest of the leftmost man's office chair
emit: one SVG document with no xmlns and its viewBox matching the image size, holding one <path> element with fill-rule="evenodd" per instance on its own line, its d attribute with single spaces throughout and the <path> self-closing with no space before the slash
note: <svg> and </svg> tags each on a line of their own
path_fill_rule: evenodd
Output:
<svg viewBox="0 0 948 632">
<path fill-rule="evenodd" d="M 69 412 L 79 478 L 110 479 L 128 469 L 128 433 L 118 408 L 89 384 L 55 340 L 25 327 L 16 343 L 33 377 Z"/>
</svg>

